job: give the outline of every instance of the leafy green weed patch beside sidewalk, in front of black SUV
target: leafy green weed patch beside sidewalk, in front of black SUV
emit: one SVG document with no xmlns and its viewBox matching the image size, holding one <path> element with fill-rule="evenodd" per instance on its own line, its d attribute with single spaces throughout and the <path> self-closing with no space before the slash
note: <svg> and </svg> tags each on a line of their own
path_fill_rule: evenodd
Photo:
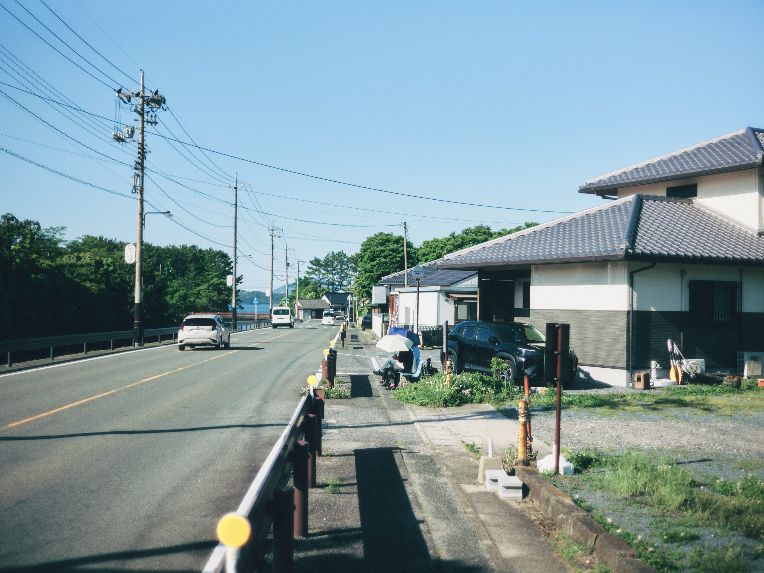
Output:
<svg viewBox="0 0 764 573">
<path fill-rule="evenodd" d="M 455 374 L 451 377 L 451 385 L 446 386 L 445 374 L 438 372 L 422 378 L 419 382 L 393 390 L 391 395 L 403 403 L 446 408 L 468 403 L 490 403 L 498 406 L 513 398 L 519 398 L 522 391 L 506 380 L 478 372 Z"/>
</svg>

